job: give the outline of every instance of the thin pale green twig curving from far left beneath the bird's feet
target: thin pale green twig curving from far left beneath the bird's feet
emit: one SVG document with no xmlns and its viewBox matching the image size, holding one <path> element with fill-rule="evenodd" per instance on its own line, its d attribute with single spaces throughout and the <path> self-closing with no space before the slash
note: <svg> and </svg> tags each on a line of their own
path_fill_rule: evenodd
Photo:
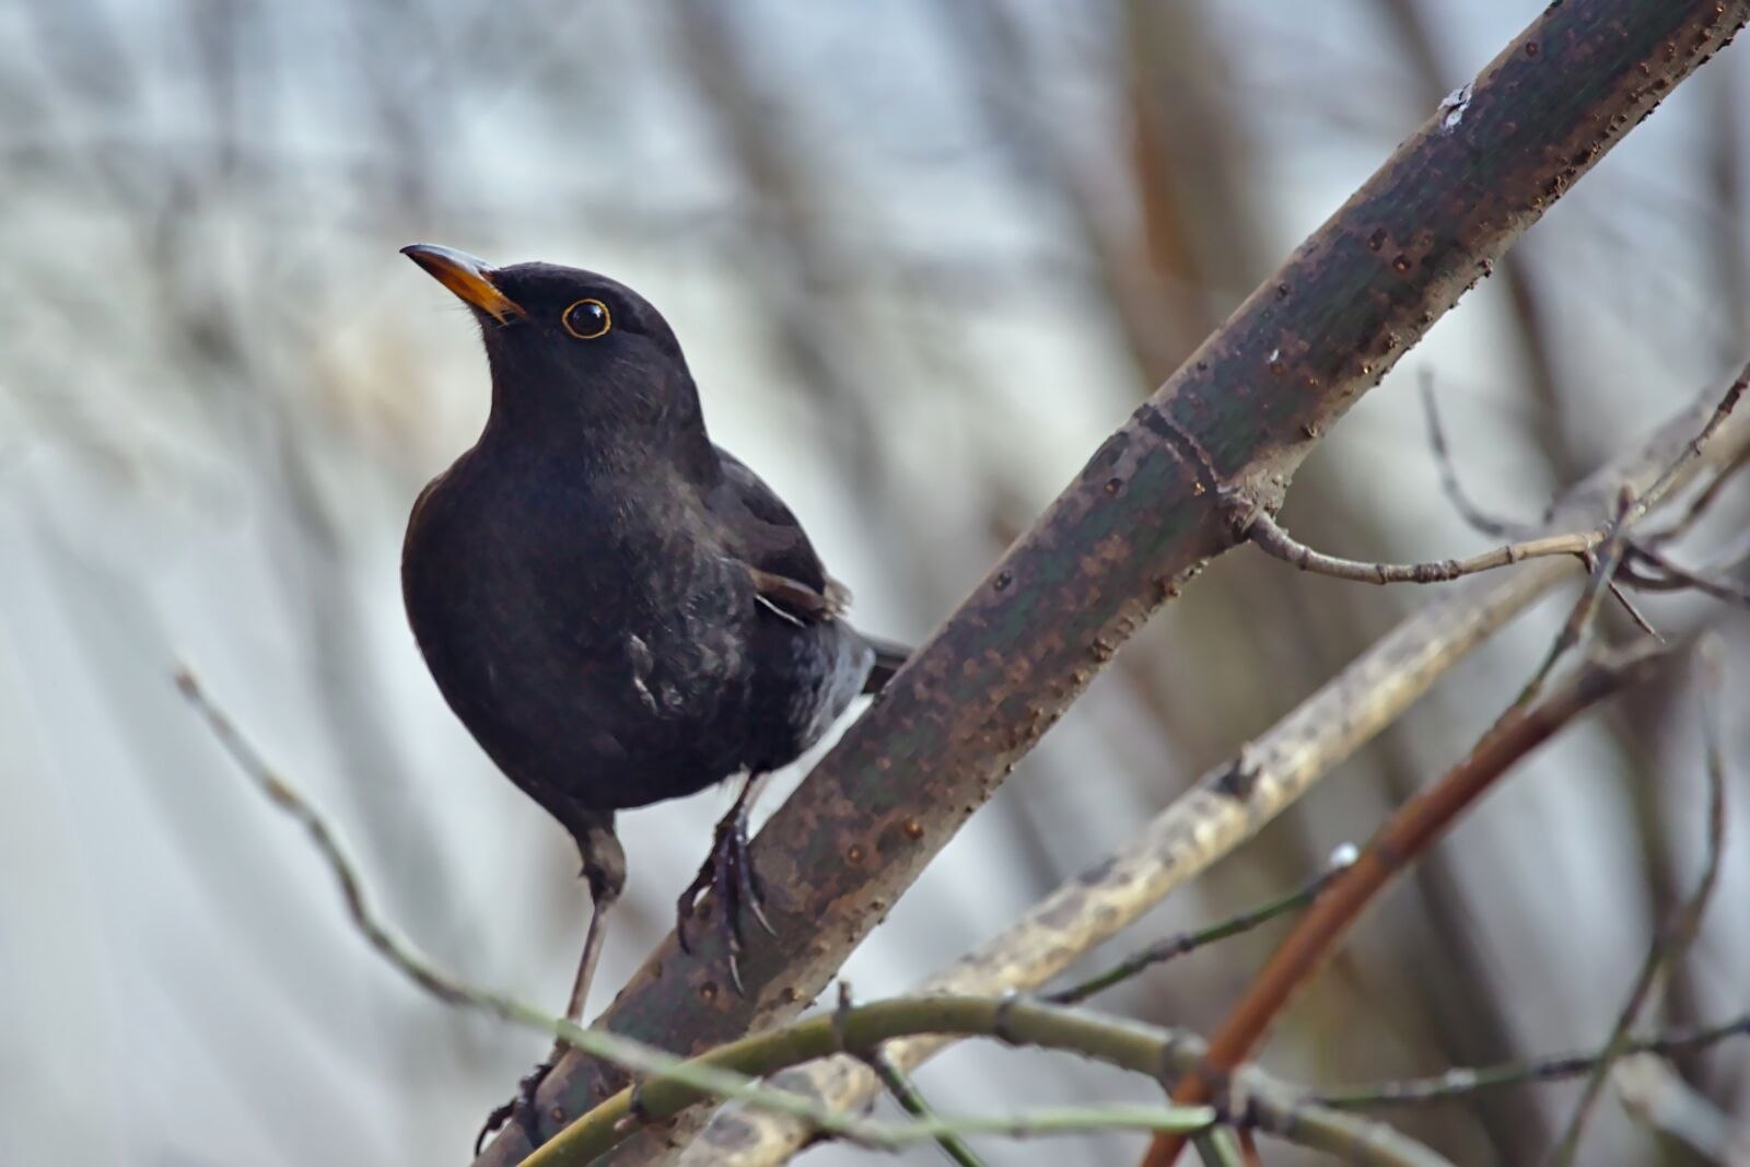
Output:
<svg viewBox="0 0 1750 1167">
<path fill-rule="evenodd" d="M 754 1081 L 752 1076 L 737 1073 L 735 1059 L 732 1057 L 695 1059 L 688 1062 L 628 1038 L 620 1038 L 598 1029 L 583 1029 L 567 1018 L 523 1004 L 514 997 L 471 985 L 466 980 L 439 969 L 411 943 L 397 936 L 396 931 L 376 915 L 371 906 L 371 899 L 366 894 L 364 880 L 359 877 L 357 866 L 346 854 L 346 849 L 340 843 L 340 836 L 334 828 L 329 826 L 327 819 L 303 794 L 299 794 L 292 784 L 280 777 L 271 765 L 268 765 L 266 758 L 247 737 L 243 737 L 236 723 L 222 709 L 219 709 L 210 696 L 206 696 L 206 691 L 201 688 L 192 670 L 187 667 L 178 668 L 175 679 L 177 688 L 182 689 L 182 695 L 191 705 L 194 705 L 196 712 L 219 738 L 220 747 L 231 756 L 238 770 L 242 770 L 256 784 L 256 787 L 273 801 L 275 807 L 289 814 L 304 828 L 310 840 L 315 843 L 317 854 L 334 875 L 334 880 L 341 889 L 341 898 L 346 903 L 346 913 L 354 926 L 397 973 L 444 1004 L 467 1006 L 492 1013 L 500 1020 L 544 1032 L 572 1048 L 607 1059 L 628 1071 L 646 1074 L 648 1078 L 635 1090 L 623 1092 L 623 1120 L 628 1116 L 648 1120 L 651 1115 L 658 1113 L 649 1104 L 634 1102 L 632 1099 L 635 1095 L 656 1095 L 662 1099 L 672 1092 L 684 1092 L 688 1099 L 709 1097 L 788 1115 L 808 1123 L 817 1134 L 845 1139 L 859 1146 L 898 1150 L 915 1143 L 942 1141 L 945 1137 L 966 1134 L 1026 1137 L 1115 1129 L 1183 1130 L 1190 1134 L 1209 1127 L 1209 1123 L 1216 1118 L 1216 1113 L 1211 1108 L 1085 1106 L 1041 1108 L 1004 1118 L 926 1116 L 906 1123 L 880 1123 L 822 1106 L 812 1099 L 788 1094 L 775 1087 L 761 1085 Z M 1004 1001 L 990 1001 L 987 1006 L 996 1011 L 996 1017 L 1003 1017 L 1008 1010 L 1008 1003 Z M 856 1022 L 858 1013 L 858 1010 L 849 1010 L 842 1018 L 844 1025 L 849 1027 Z M 1078 1020 L 1071 1024 L 1059 1024 L 1052 1031 L 1055 1032 L 1054 1048 L 1085 1052 L 1090 1057 L 1101 1057 L 1099 1048 L 1110 1045 L 1110 1038 L 1104 1032 L 1106 1024 L 1088 1018 L 1087 1015 L 1076 1015 L 1076 1018 Z M 830 1024 L 836 1027 L 840 1022 L 835 1020 Z M 1097 1048 L 1080 1050 L 1076 1045 L 1078 1031 L 1083 1031 L 1083 1039 Z M 1172 1039 L 1172 1034 L 1160 1038 L 1162 1043 L 1171 1043 Z M 844 1031 L 840 1031 L 840 1038 L 836 1041 L 836 1048 L 845 1048 Z M 1020 1029 L 1015 1031 L 1015 1041 L 1027 1041 Z M 1290 1094 L 1283 1087 L 1272 1088 L 1276 1088 L 1283 1097 Z M 656 1106 L 660 1106 L 660 1102 Z M 1328 1143 L 1339 1137 L 1382 1146 L 1384 1150 L 1381 1151 L 1381 1158 L 1372 1160 L 1381 1167 L 1386 1167 L 1388 1164 L 1393 1167 L 1414 1167 L 1418 1164 L 1432 1165 L 1442 1162 L 1416 1158 L 1414 1155 L 1405 1157 L 1400 1153 L 1404 1141 L 1395 1139 L 1393 1136 L 1379 1136 L 1377 1123 L 1356 1125 L 1344 1115 L 1325 1113 L 1316 1106 L 1307 1108 L 1302 1104 L 1283 1102 L 1278 1109 L 1270 1109 L 1269 1116 L 1272 1122 L 1295 1122 L 1309 1125 L 1312 1134 L 1306 1141 L 1307 1146 L 1318 1146 L 1318 1139 L 1325 1139 Z M 562 1150 L 550 1151 L 548 1148 L 542 1148 L 544 1157 L 560 1153 Z M 556 1158 L 555 1162 L 567 1160 Z"/>
</svg>

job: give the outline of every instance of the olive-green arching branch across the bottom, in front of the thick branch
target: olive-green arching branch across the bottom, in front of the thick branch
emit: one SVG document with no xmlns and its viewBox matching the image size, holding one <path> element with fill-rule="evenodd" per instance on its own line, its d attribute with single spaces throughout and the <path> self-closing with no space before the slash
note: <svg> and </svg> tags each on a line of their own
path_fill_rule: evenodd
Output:
<svg viewBox="0 0 1750 1167">
<path fill-rule="evenodd" d="M 1188 1032 L 1027 997 L 898 997 L 761 1031 L 700 1055 L 693 1066 L 765 1078 L 828 1055 L 861 1057 L 882 1043 L 917 1034 L 990 1038 L 1008 1046 L 1066 1050 L 1164 1081 L 1194 1073 L 1206 1053 L 1204 1041 Z M 1292 1102 L 1298 1094 L 1304 1092 L 1246 1066 L 1232 1074 L 1227 1092 L 1214 1101 L 1214 1109 L 1202 1113 L 1204 1122 L 1176 1129 L 1192 1134 L 1214 1122 L 1244 1125 L 1328 1151 L 1348 1164 L 1372 1167 L 1435 1167 L 1447 1162 L 1381 1123 L 1358 1125 L 1353 1122 L 1354 1115 Z M 525 1162 L 528 1167 L 583 1167 L 639 1129 L 660 1123 L 702 1097 L 696 1087 L 672 1074 L 646 1080 L 584 1113 Z M 1111 1113 L 1125 1111 L 1118 1108 Z M 1164 1125 L 1164 1120 L 1157 1118 L 1157 1125 Z M 956 1130 L 975 1134 L 985 1129 L 957 1122 Z"/>
</svg>

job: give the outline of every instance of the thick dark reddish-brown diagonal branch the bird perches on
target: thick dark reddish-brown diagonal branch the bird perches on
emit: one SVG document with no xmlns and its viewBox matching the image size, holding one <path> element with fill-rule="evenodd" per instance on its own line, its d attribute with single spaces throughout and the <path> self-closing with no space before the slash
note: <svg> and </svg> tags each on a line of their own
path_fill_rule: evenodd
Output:
<svg viewBox="0 0 1750 1167">
<path fill-rule="evenodd" d="M 1116 647 L 1234 542 L 1227 495 L 1274 513 L 1354 401 L 1670 87 L 1750 0 L 1549 7 L 1270 276 L 1090 458 L 754 845 L 777 940 L 668 936 L 598 1024 L 698 1052 L 793 1017 Z M 625 1085 L 567 1055 L 551 1134 Z M 668 1132 L 682 1143 L 704 1115 Z M 509 1129 L 478 1160 L 518 1162 Z"/>
</svg>

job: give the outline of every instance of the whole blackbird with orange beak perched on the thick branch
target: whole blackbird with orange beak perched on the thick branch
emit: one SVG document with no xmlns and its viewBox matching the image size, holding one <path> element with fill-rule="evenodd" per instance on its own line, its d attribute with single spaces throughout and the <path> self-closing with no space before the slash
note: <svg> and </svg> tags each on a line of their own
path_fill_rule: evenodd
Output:
<svg viewBox="0 0 1750 1167">
<path fill-rule="evenodd" d="M 796 516 L 710 443 L 668 322 L 607 276 L 404 254 L 474 313 L 492 369 L 480 439 L 413 504 L 401 584 L 439 691 L 578 842 L 595 912 L 579 1020 L 626 866 L 614 814 L 752 775 L 681 898 L 714 887 L 732 980 L 758 775 L 794 761 L 903 663 L 842 618 Z M 534 1085 L 525 1087 L 532 1099 Z M 539 1143 L 537 1116 L 518 1116 Z"/>
</svg>

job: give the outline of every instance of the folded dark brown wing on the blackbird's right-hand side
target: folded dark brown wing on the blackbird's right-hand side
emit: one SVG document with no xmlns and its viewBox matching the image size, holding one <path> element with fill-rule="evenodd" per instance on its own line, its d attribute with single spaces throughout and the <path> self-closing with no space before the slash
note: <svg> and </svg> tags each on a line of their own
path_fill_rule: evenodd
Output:
<svg viewBox="0 0 1750 1167">
<path fill-rule="evenodd" d="M 754 593 L 786 619 L 816 625 L 845 611 L 850 591 L 826 574 L 802 523 L 758 474 L 718 450 L 723 479 L 705 493 L 724 549 L 747 567 Z"/>
</svg>

